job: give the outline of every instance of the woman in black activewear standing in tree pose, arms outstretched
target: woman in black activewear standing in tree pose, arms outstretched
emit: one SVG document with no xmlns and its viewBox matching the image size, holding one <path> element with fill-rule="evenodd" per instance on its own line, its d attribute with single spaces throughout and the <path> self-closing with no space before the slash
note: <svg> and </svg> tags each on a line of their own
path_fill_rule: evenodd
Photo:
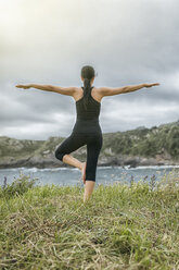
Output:
<svg viewBox="0 0 179 270">
<path fill-rule="evenodd" d="M 16 85 L 18 88 L 37 88 L 41 90 L 55 91 L 62 95 L 72 96 L 76 101 L 77 119 L 73 127 L 72 134 L 62 142 L 55 149 L 56 159 L 64 163 L 76 167 L 81 170 L 81 177 L 85 184 L 84 202 L 88 200 L 93 192 L 95 184 L 95 172 L 98 158 L 103 144 L 102 131 L 99 124 L 99 115 L 101 110 L 101 100 L 105 96 L 114 96 L 126 94 L 141 89 L 143 87 L 152 87 L 155 84 L 140 84 L 124 87 L 93 87 L 95 77 L 94 69 L 85 65 L 81 69 L 81 81 L 84 87 L 61 87 L 52 85 Z M 87 162 L 80 162 L 69 154 L 79 147 L 87 145 Z"/>
</svg>

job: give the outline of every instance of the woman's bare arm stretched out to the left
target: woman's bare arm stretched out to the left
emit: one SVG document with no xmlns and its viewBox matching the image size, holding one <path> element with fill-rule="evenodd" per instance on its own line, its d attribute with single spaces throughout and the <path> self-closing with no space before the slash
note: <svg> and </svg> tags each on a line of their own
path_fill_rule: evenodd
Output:
<svg viewBox="0 0 179 270">
<path fill-rule="evenodd" d="M 61 86 L 53 86 L 53 85 L 38 85 L 38 84 L 28 84 L 28 85 L 16 85 L 17 88 L 28 89 L 28 88 L 36 88 L 44 91 L 54 91 L 62 95 L 73 96 L 75 93 L 76 87 L 61 87 Z"/>
</svg>

